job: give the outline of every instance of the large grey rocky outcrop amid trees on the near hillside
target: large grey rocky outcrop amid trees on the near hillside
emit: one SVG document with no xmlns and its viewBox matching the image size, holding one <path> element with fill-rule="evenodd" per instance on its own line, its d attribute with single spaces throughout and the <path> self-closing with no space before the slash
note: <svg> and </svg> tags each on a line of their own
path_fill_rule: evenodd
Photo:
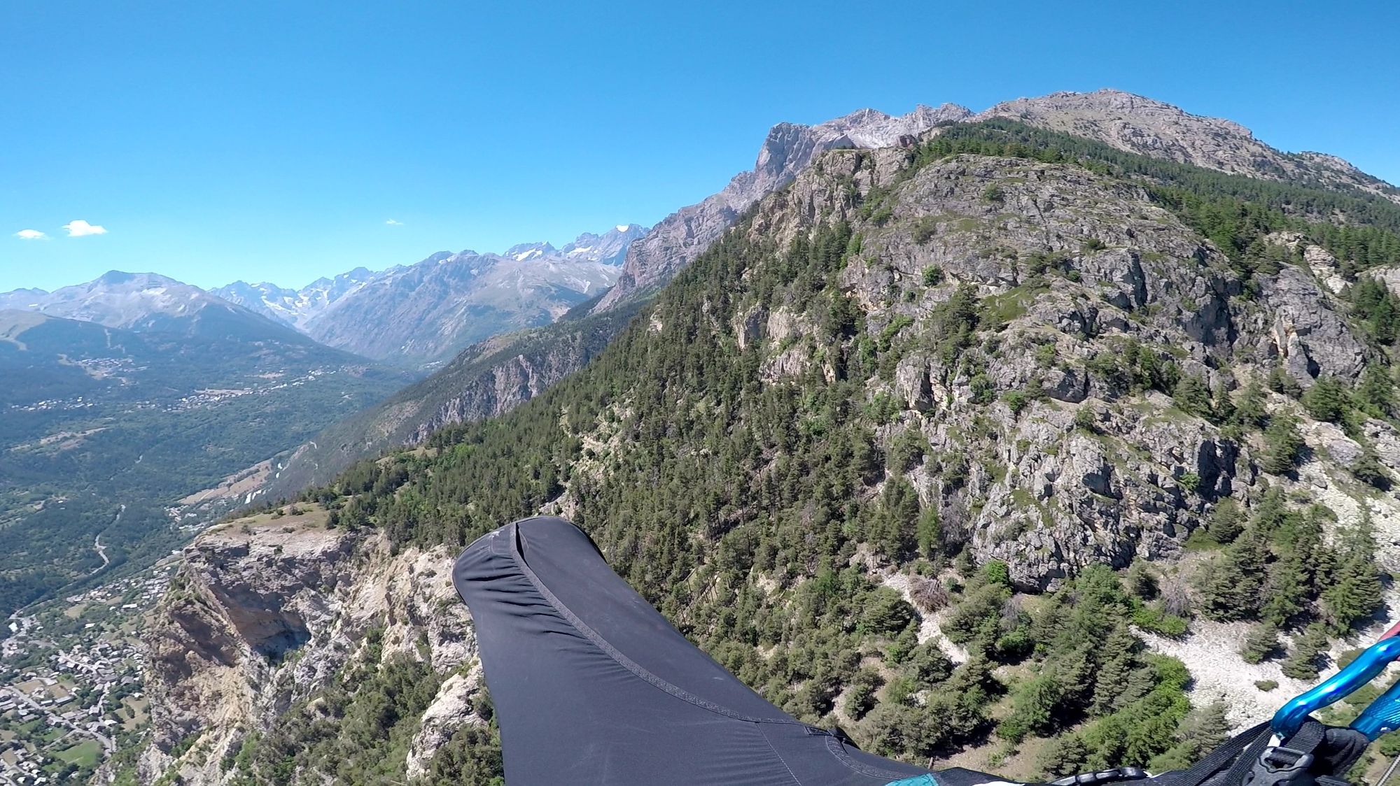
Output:
<svg viewBox="0 0 1400 786">
<path fill-rule="evenodd" d="M 872 336 L 904 324 L 895 334 L 909 337 L 889 380 L 872 383 L 872 397 L 889 393 L 903 408 L 882 439 L 916 429 L 927 441 L 910 483 L 939 508 L 946 536 L 979 559 L 1004 559 L 1022 587 L 1095 562 L 1175 557 L 1212 501 L 1259 477 L 1260 443 L 1222 434 L 1162 392 L 1130 390 L 1113 371 L 1128 347 L 1211 389 L 1275 365 L 1302 386 L 1364 368 L 1344 303 L 1312 270 L 1260 274 L 1257 299 L 1246 298 L 1225 256 L 1137 186 L 987 157 L 899 175 L 906 161 L 899 150 L 827 154 L 820 172 L 769 197 L 750 231 L 783 248 L 813 220 L 854 224 L 861 252 L 841 290 Z M 841 183 L 893 189 L 878 224 Z M 925 277 L 931 269 L 938 276 Z M 949 362 L 939 312 L 966 287 L 990 323 L 967 350 L 974 361 Z M 731 330 L 760 352 L 771 382 L 798 378 L 826 351 L 809 315 L 739 315 Z M 1334 466 L 1359 456 L 1355 442 L 1327 434 L 1309 442 Z"/>
</svg>

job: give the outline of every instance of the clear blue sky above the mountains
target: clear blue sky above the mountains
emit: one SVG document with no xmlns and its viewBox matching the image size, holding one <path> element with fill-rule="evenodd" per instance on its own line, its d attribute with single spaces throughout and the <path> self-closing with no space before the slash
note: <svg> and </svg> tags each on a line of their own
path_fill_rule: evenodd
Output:
<svg viewBox="0 0 1400 786">
<path fill-rule="evenodd" d="M 1393 3 L 14 0 L 0 291 L 109 269 L 300 287 L 560 245 L 718 190 L 781 120 L 1056 90 L 1400 182 L 1396 29 Z"/>
</svg>

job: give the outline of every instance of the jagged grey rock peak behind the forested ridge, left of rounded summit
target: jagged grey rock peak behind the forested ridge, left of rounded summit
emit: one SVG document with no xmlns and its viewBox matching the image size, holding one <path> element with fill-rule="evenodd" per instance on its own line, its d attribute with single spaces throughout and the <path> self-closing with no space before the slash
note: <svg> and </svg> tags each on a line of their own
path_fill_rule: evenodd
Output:
<svg viewBox="0 0 1400 786">
<path fill-rule="evenodd" d="M 735 175 L 722 192 L 700 204 L 672 213 L 627 249 L 617 284 L 594 310 L 615 308 L 669 281 L 724 234 L 741 213 L 792 180 L 816 154 L 836 148 L 890 147 L 902 137 L 913 138 L 938 123 L 965 120 L 970 115 L 963 106 L 944 103 L 937 109 L 918 106 L 902 117 L 861 109 L 816 126 L 773 126 L 752 171 Z"/>
</svg>

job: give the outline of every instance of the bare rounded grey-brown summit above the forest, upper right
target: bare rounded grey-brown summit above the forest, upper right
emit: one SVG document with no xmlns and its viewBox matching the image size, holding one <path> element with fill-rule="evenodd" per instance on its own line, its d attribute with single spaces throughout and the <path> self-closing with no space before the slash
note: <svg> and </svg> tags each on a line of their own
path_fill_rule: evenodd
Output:
<svg viewBox="0 0 1400 786">
<path fill-rule="evenodd" d="M 1131 92 L 1051 92 L 1018 98 L 979 112 L 970 120 L 1009 117 L 1064 131 L 1119 150 L 1194 164 L 1268 180 L 1302 180 L 1358 187 L 1400 201 L 1400 190 L 1351 164 L 1317 152 L 1288 154 L 1254 138 L 1232 120 L 1191 115 L 1170 103 Z"/>
</svg>

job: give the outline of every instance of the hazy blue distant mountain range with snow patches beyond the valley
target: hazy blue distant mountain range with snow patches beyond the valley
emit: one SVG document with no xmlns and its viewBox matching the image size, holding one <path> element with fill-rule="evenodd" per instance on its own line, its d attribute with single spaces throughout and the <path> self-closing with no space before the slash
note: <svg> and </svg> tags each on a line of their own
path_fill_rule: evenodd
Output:
<svg viewBox="0 0 1400 786">
<path fill-rule="evenodd" d="M 645 234 L 638 224 L 619 224 L 601 235 L 585 232 L 561 249 L 533 242 L 505 253 L 438 252 L 382 271 L 356 267 L 300 290 L 234 281 L 204 291 L 155 273 L 113 270 L 53 292 L 0 292 L 0 309 L 193 331 L 242 330 L 235 326 L 258 315 L 329 347 L 416 366 L 498 333 L 549 324 L 596 298 L 617 280 L 631 242 Z"/>
</svg>

